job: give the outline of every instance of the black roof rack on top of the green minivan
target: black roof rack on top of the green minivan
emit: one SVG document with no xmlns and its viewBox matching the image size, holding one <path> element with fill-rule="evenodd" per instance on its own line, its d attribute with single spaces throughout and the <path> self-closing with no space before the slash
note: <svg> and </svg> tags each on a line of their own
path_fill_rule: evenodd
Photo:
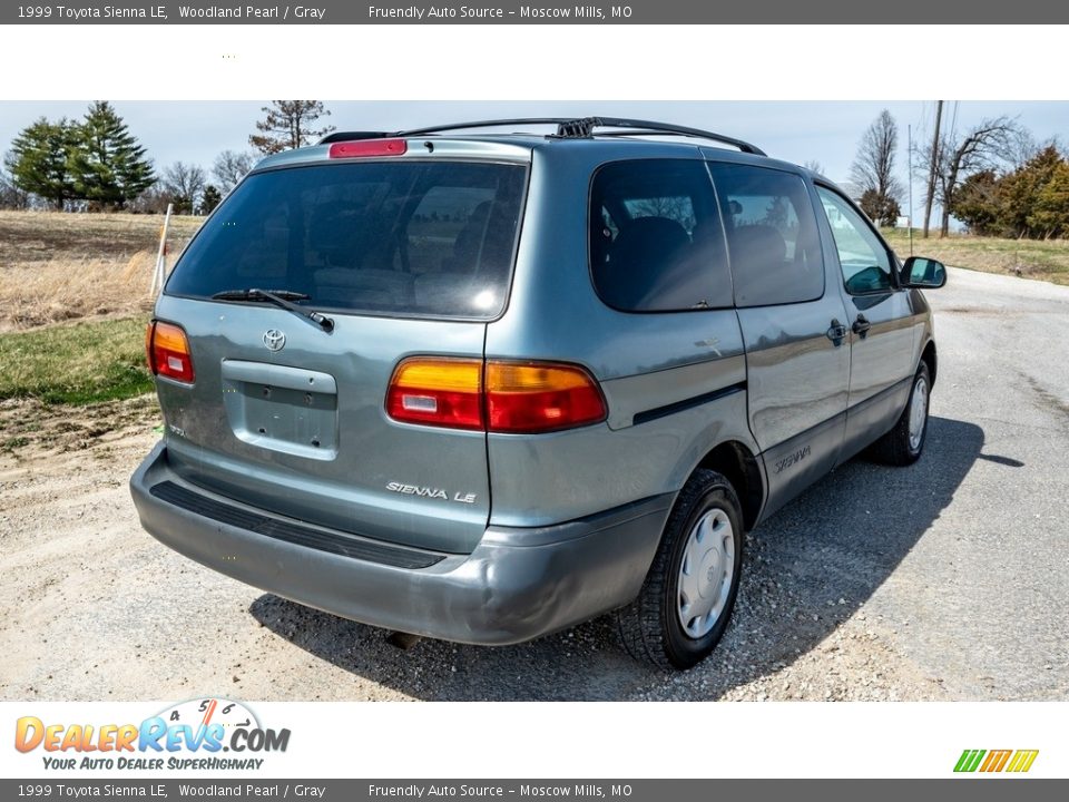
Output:
<svg viewBox="0 0 1069 802">
<path fill-rule="evenodd" d="M 475 120 L 472 123 L 454 123 L 452 125 L 429 126 L 425 128 L 412 128 L 402 131 L 337 131 L 323 137 L 318 144 L 328 145 L 335 141 L 352 141 L 354 139 L 381 139 L 383 137 L 409 137 L 423 136 L 424 134 L 441 134 L 451 130 L 463 130 L 465 128 L 500 128 L 508 125 L 555 125 L 557 126 L 556 136 L 561 139 L 585 139 L 594 136 L 595 128 L 626 128 L 616 133 L 605 131 L 608 136 L 643 136 L 649 134 L 667 134 L 670 136 L 687 136 L 698 139 L 709 139 L 712 141 L 723 143 L 738 148 L 742 153 L 754 154 L 755 156 L 765 156 L 764 150 L 756 145 L 751 145 L 735 137 L 715 134 L 714 131 L 702 130 L 700 128 L 687 128 L 685 126 L 673 125 L 670 123 L 656 123 L 653 120 L 628 119 L 622 117 L 516 117 L 511 119 Z"/>
</svg>

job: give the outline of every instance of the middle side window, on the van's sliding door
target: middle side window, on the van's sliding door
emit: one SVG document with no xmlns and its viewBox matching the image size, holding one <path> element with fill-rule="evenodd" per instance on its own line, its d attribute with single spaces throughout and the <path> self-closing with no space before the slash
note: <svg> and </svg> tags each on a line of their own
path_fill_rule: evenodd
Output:
<svg viewBox="0 0 1069 802">
<path fill-rule="evenodd" d="M 821 297 L 824 258 L 805 182 L 765 167 L 710 169 L 727 229 L 735 302 L 768 306 Z"/>
</svg>

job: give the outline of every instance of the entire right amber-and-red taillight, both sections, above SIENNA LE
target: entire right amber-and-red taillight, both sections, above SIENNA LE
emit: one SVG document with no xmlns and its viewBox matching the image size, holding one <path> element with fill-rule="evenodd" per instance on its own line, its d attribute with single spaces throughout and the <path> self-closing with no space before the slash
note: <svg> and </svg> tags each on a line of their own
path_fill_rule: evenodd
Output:
<svg viewBox="0 0 1069 802">
<path fill-rule="evenodd" d="M 386 413 L 404 423 L 503 433 L 605 420 L 605 399 L 582 368 L 556 362 L 413 358 L 390 380 Z"/>
</svg>

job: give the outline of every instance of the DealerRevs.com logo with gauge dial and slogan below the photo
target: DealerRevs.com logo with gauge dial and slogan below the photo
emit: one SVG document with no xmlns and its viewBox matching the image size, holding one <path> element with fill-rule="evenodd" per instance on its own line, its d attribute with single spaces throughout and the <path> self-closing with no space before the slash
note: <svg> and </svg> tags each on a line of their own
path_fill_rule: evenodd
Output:
<svg viewBox="0 0 1069 802">
<path fill-rule="evenodd" d="M 14 747 L 38 750 L 46 769 L 257 770 L 259 756 L 285 752 L 290 730 L 263 727 L 241 702 L 182 702 L 140 724 L 57 724 L 37 716 L 16 722 Z M 225 753 L 225 756 L 224 756 Z"/>
</svg>

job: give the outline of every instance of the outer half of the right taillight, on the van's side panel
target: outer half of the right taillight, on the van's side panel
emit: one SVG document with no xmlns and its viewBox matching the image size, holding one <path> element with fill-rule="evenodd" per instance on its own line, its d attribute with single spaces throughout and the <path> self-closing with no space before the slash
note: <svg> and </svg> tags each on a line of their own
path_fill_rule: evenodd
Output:
<svg viewBox="0 0 1069 802">
<path fill-rule="evenodd" d="M 582 368 L 487 362 L 487 418 L 494 432 L 545 432 L 605 420 L 601 391 Z"/>
</svg>

